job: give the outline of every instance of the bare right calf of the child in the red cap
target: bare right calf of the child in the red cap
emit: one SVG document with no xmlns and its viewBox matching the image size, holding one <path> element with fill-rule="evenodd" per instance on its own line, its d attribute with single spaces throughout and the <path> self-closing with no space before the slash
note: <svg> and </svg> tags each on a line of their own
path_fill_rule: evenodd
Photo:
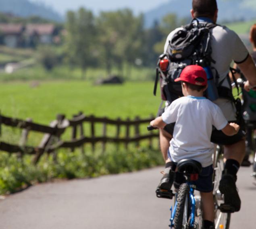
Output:
<svg viewBox="0 0 256 229">
<path fill-rule="evenodd" d="M 203 208 L 203 219 L 214 222 L 214 202 L 212 192 L 200 192 Z"/>
</svg>

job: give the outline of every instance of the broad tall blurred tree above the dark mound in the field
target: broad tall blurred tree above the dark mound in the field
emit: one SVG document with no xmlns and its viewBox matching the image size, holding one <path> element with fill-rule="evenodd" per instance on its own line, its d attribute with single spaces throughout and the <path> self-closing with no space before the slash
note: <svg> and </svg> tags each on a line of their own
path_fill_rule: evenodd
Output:
<svg viewBox="0 0 256 229">
<path fill-rule="evenodd" d="M 134 63 L 141 53 L 142 16 L 133 16 L 129 9 L 102 12 L 97 20 L 100 52 L 108 74 L 116 65 L 123 72 L 123 63 Z M 130 68 L 129 68 L 130 69 Z"/>
</svg>

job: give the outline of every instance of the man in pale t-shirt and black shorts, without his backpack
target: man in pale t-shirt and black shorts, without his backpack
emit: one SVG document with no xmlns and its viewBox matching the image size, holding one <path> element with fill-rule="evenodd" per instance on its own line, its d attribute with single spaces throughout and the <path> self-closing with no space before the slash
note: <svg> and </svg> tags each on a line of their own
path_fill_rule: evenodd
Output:
<svg viewBox="0 0 256 229">
<path fill-rule="evenodd" d="M 191 9 L 192 18 L 197 18 L 199 22 L 212 22 L 216 24 L 218 17 L 218 8 L 216 0 L 192 0 Z M 181 28 L 172 31 L 164 45 L 164 53 L 167 51 L 169 41 L 173 34 Z M 210 29 L 212 33 L 211 57 L 216 63 L 212 63 L 212 67 L 216 71 L 212 71 L 214 79 L 216 79 L 216 72 L 219 75 L 218 88 L 219 98 L 213 102 L 218 105 L 227 121 L 237 123 L 241 126 L 237 134 L 233 136 L 226 136 L 222 131 L 213 129 L 211 141 L 213 143 L 224 146 L 224 156 L 226 159 L 222 178 L 219 184 L 219 190 L 224 194 L 225 204 L 231 206 L 234 211 L 239 211 L 241 208 L 241 200 L 237 192 L 235 182 L 237 180 L 237 172 L 240 164 L 245 156 L 245 132 L 242 123 L 239 123 L 237 117 L 237 110 L 233 102 L 232 91 L 228 81 L 229 67 L 234 61 L 241 72 L 246 77 L 247 81 L 245 88 L 249 90 L 256 86 L 256 67 L 251 55 L 249 54 L 244 43 L 239 36 L 232 30 L 225 26 L 216 25 Z M 219 90 L 221 88 L 221 90 Z M 167 88 L 163 88 L 167 90 Z M 168 105 L 172 101 L 167 101 Z M 166 107 L 167 108 L 167 107 Z M 166 109 L 165 108 L 165 109 Z M 241 112 L 238 110 L 238 112 Z M 174 123 L 166 125 L 164 129 L 160 129 L 160 148 L 164 160 L 167 160 L 167 152 L 169 149 L 169 141 L 173 137 Z"/>
</svg>

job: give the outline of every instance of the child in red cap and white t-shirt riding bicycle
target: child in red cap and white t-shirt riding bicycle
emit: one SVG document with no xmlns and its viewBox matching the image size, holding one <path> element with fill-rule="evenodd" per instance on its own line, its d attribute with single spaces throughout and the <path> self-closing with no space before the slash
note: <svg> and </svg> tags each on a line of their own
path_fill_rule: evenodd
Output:
<svg viewBox="0 0 256 229">
<path fill-rule="evenodd" d="M 150 122 L 150 125 L 157 128 L 164 128 L 169 123 L 175 123 L 164 176 L 158 188 L 170 190 L 173 182 L 175 188 L 179 186 L 179 183 L 184 182 L 182 174 L 176 172 L 175 181 L 170 176 L 181 159 L 194 159 L 200 162 L 202 172 L 194 184 L 202 198 L 204 228 L 209 229 L 214 225 L 212 194 L 214 146 L 210 142 L 212 126 L 231 136 L 238 132 L 239 125 L 228 123 L 221 109 L 203 96 L 207 88 L 207 77 L 202 67 L 199 65 L 185 67 L 180 77 L 175 80 L 175 82 L 178 81 L 181 81 L 184 97 L 174 100 L 160 117 Z"/>
</svg>

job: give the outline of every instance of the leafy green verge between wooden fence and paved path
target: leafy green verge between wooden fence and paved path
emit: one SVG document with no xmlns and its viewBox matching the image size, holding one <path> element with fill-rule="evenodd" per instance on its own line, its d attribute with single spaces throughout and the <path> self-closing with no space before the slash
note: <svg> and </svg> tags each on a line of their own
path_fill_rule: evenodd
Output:
<svg viewBox="0 0 256 229">
<path fill-rule="evenodd" d="M 37 166 L 31 165 L 30 156 L 25 156 L 21 160 L 15 155 L 1 152 L 0 194 L 14 193 L 35 183 L 56 178 L 97 177 L 162 164 L 160 153 L 147 148 L 133 148 L 128 151 L 113 149 L 104 154 L 60 151 L 57 163 L 51 155 L 44 155 Z"/>
</svg>

